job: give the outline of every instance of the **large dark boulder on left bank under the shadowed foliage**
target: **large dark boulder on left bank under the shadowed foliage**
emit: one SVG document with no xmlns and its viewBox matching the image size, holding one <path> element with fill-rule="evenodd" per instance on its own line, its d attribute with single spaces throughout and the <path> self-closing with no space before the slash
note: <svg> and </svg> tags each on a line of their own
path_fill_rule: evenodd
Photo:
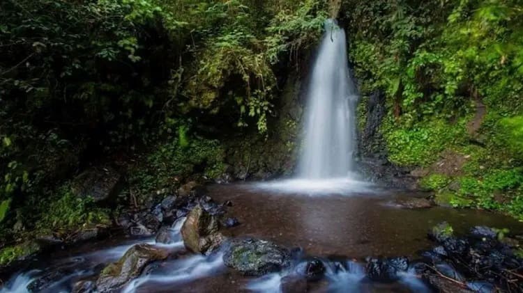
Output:
<svg viewBox="0 0 523 293">
<path fill-rule="evenodd" d="M 116 193 L 121 175 L 110 166 L 89 168 L 73 180 L 72 189 L 77 196 L 91 196 L 95 202 L 107 200 Z"/>
</svg>

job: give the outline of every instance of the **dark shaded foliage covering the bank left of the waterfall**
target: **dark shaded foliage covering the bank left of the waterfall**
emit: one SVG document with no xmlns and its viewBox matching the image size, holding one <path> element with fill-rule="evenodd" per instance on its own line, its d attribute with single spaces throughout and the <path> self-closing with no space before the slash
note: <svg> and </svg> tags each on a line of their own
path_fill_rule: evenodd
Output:
<svg viewBox="0 0 523 293">
<path fill-rule="evenodd" d="M 144 153 L 128 177 L 140 193 L 220 175 L 216 133 L 268 133 L 274 97 L 327 15 L 318 0 L 1 1 L 3 244 L 106 222 L 68 184 L 91 161 Z"/>
</svg>

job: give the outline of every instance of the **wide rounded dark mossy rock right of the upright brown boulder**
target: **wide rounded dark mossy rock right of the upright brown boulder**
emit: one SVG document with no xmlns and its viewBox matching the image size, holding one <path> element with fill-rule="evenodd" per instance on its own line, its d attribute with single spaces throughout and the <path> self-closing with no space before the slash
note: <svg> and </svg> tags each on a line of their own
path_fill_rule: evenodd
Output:
<svg viewBox="0 0 523 293">
<path fill-rule="evenodd" d="M 248 276 L 261 276 L 291 265 L 290 252 L 271 241 L 236 239 L 223 255 L 227 267 Z"/>
</svg>

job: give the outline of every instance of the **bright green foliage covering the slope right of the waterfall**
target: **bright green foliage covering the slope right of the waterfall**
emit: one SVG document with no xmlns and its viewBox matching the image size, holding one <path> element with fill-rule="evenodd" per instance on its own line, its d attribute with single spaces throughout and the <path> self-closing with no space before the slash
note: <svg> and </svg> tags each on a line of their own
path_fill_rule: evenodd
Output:
<svg viewBox="0 0 523 293">
<path fill-rule="evenodd" d="M 520 1 L 344 7 L 361 89 L 387 96 L 381 131 L 391 161 L 432 173 L 425 186 L 452 205 L 523 217 Z M 441 168 L 449 161 L 462 165 Z"/>
</svg>

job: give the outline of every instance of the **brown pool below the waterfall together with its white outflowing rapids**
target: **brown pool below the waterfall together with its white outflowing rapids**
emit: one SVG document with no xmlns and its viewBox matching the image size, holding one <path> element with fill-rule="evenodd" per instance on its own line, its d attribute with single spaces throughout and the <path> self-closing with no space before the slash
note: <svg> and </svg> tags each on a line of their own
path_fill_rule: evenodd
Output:
<svg viewBox="0 0 523 293">
<path fill-rule="evenodd" d="M 213 185 L 208 192 L 215 201 L 231 200 L 233 205 L 227 213 L 241 222 L 226 229 L 225 235 L 251 236 L 289 248 L 301 247 L 306 255 L 324 260 L 326 278 L 310 284 L 309 292 L 428 292 L 420 280 L 409 274 L 393 284 L 363 281 L 363 258 L 402 255 L 416 259 L 420 251 L 433 245 L 427 232 L 441 221 L 448 221 L 457 233 L 473 225 L 523 232 L 522 223 L 501 214 L 444 207 L 401 209 L 393 204 L 398 199 L 427 196 L 425 193 L 344 188 L 319 194 L 273 187 L 225 184 Z M 176 233 L 180 226 L 177 225 Z M 27 292 L 26 286 L 41 276 L 48 276 L 50 283 L 44 292 L 70 292 L 75 282 L 96 278 L 105 264 L 143 242 L 154 243 L 152 238 L 113 237 L 42 255 L 27 262 L 0 292 Z M 244 277 L 227 269 L 220 253 L 209 257 L 192 255 L 181 241 L 167 248 L 176 258 L 160 262 L 122 292 L 279 292 L 287 274 Z M 53 278 L 53 271 L 61 273 Z"/>
</svg>

